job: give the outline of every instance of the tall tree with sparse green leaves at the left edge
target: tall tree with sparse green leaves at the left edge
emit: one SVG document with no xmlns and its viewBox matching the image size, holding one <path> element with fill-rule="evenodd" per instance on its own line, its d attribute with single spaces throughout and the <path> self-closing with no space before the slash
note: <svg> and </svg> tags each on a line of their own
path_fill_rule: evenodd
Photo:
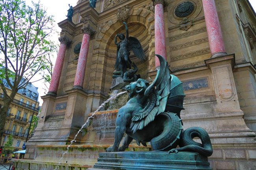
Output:
<svg viewBox="0 0 256 170">
<path fill-rule="evenodd" d="M 54 21 L 39 3 L 28 6 L 23 0 L 0 0 L 0 86 L 4 93 L 0 107 L 0 143 L 6 113 L 17 91 L 51 67 L 47 57 L 56 49 L 49 40 Z M 11 88 L 11 93 L 7 93 L 5 85 Z"/>
</svg>

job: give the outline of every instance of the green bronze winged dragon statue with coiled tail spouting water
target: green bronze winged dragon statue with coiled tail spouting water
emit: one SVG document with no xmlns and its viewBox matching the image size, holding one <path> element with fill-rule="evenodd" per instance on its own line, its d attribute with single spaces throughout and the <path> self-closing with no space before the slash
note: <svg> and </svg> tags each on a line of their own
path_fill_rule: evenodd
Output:
<svg viewBox="0 0 256 170">
<path fill-rule="evenodd" d="M 165 59 L 156 56 L 160 69 L 154 82 L 149 85 L 147 80 L 138 79 L 125 87 L 130 100 L 119 109 L 114 144 L 106 152 L 124 151 L 135 139 L 138 145 L 147 146 L 150 142 L 152 150 L 189 151 L 210 156 L 213 152 L 211 141 L 203 128 L 183 130 L 180 119 L 185 97 L 182 82 L 170 75 Z M 119 147 L 124 133 L 126 137 Z M 193 141 L 194 137 L 199 137 L 202 144 Z M 176 148 L 178 145 L 180 148 Z"/>
</svg>

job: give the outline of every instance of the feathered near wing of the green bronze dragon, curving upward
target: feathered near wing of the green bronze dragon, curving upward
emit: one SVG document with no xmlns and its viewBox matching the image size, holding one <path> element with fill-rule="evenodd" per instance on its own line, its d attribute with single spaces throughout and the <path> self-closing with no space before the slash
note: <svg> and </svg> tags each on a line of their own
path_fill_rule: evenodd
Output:
<svg viewBox="0 0 256 170">
<path fill-rule="evenodd" d="M 143 129 L 148 123 L 154 121 L 156 115 L 165 111 L 170 95 L 171 76 L 167 62 L 162 56 L 156 56 L 160 60 L 160 69 L 154 82 L 145 91 L 145 96 L 148 97 L 147 106 L 132 115 L 130 129 L 133 133 Z"/>
</svg>

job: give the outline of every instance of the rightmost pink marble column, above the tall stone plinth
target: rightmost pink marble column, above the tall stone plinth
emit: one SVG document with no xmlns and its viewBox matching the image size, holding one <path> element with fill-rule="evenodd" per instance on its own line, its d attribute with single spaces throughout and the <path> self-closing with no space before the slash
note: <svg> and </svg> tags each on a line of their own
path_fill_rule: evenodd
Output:
<svg viewBox="0 0 256 170">
<path fill-rule="evenodd" d="M 211 58 L 227 55 L 214 0 L 202 0 Z"/>
</svg>

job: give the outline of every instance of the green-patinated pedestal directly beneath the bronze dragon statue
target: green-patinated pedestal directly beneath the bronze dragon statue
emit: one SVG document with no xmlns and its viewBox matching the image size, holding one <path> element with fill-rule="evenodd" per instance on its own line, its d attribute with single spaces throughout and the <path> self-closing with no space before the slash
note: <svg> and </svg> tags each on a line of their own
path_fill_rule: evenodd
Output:
<svg viewBox="0 0 256 170">
<path fill-rule="evenodd" d="M 211 170 L 207 157 L 194 152 L 108 152 L 100 153 L 88 170 Z"/>
</svg>

